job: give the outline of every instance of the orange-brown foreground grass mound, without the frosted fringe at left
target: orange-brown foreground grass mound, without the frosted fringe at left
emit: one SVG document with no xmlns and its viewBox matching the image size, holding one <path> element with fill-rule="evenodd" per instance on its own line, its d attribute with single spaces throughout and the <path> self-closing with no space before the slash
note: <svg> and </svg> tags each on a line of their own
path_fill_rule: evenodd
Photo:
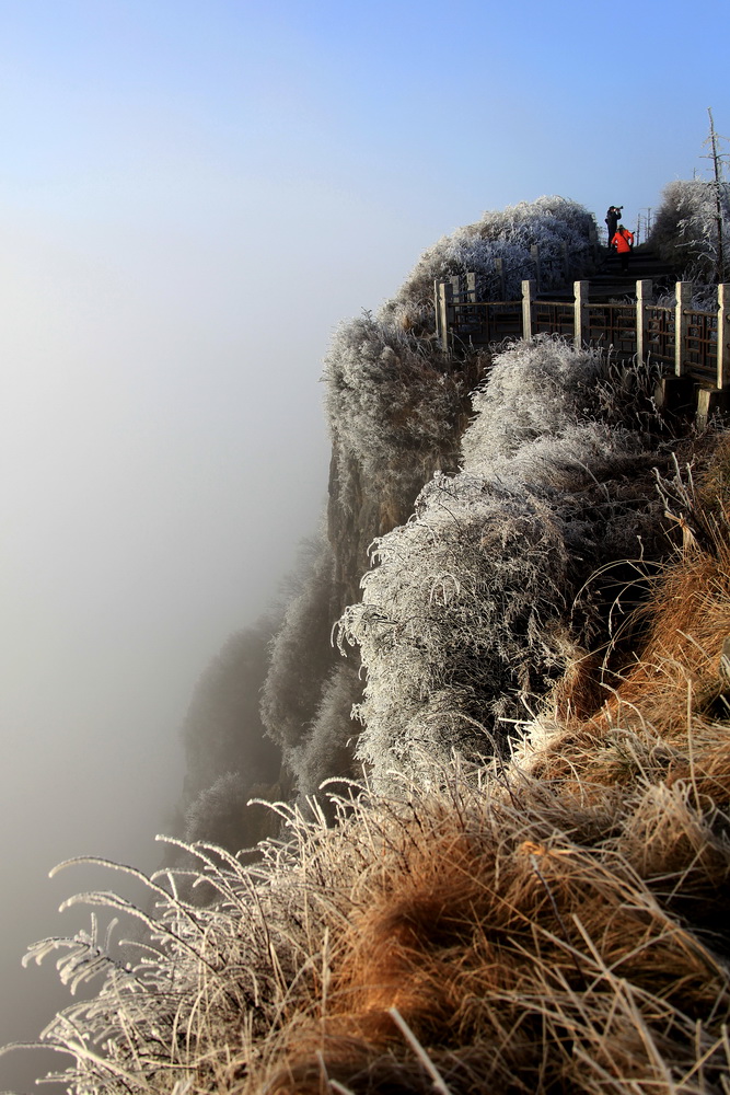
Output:
<svg viewBox="0 0 730 1095">
<path fill-rule="evenodd" d="M 716 816 L 691 785 L 590 807 L 531 780 L 494 789 L 361 819 L 378 856 L 328 925 L 326 999 L 224 1090 L 433 1091 L 393 1008 L 453 1093 L 723 1090 Z"/>
</svg>

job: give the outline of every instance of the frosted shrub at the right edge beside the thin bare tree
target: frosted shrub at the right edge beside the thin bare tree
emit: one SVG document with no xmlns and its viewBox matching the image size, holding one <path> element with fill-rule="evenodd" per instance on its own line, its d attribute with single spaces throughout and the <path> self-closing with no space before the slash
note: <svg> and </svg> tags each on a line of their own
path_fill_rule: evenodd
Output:
<svg viewBox="0 0 730 1095">
<path fill-rule="evenodd" d="M 676 180 L 662 193 L 650 243 L 665 262 L 683 270 L 686 278 L 717 279 L 717 195 L 714 182 L 699 178 Z M 730 262 L 730 184 L 720 183 L 719 196 L 727 276 Z"/>
</svg>

